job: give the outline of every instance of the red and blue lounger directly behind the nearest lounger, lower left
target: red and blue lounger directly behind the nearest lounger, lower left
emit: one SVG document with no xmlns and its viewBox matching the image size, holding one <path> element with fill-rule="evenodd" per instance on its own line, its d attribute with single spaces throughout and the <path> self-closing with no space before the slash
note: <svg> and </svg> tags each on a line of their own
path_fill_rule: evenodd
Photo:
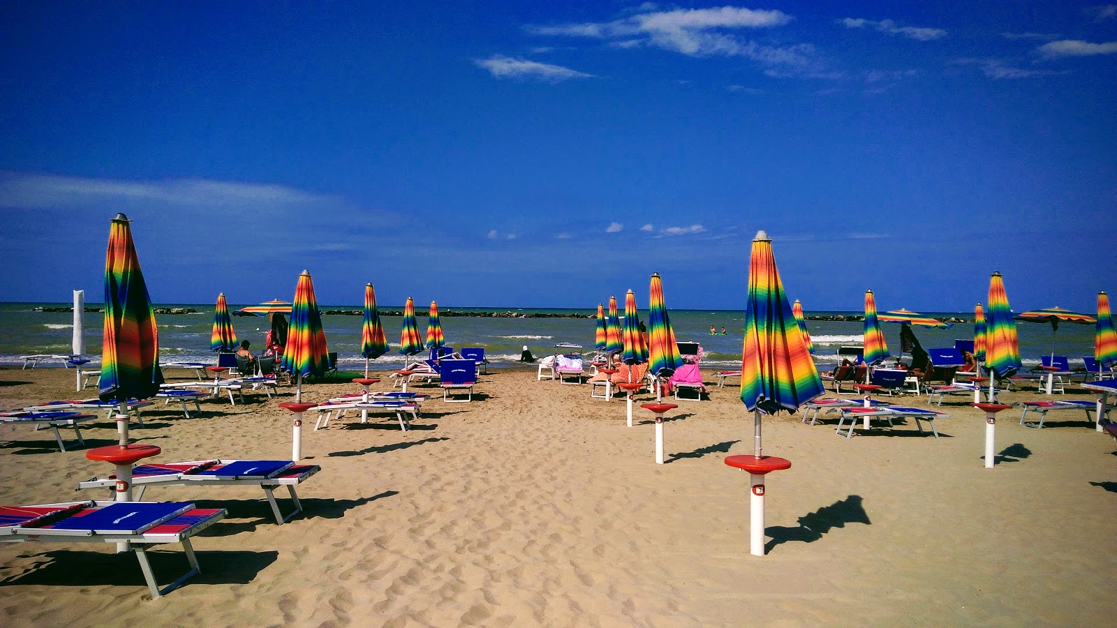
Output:
<svg viewBox="0 0 1117 628">
<path fill-rule="evenodd" d="M 132 486 L 140 498 L 147 486 L 259 486 L 268 498 L 276 523 L 283 525 L 298 513 L 303 504 L 298 501 L 295 486 L 322 470 L 318 465 L 296 465 L 290 460 L 190 460 L 187 463 L 146 464 L 132 468 Z M 116 486 L 116 475 L 105 478 L 94 477 L 78 483 L 78 489 L 108 488 Z M 294 510 L 283 516 L 274 491 L 286 486 L 290 493 Z"/>
</svg>

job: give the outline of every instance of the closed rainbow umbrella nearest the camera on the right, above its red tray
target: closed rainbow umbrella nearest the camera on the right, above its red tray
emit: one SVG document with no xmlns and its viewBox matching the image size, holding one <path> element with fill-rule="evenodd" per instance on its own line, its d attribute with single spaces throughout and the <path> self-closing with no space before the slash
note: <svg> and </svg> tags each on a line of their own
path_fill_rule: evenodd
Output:
<svg viewBox="0 0 1117 628">
<path fill-rule="evenodd" d="M 742 353 L 741 400 L 756 412 L 755 455 L 760 457 L 760 412 L 794 412 L 823 393 L 822 379 L 780 283 L 772 240 L 764 231 L 756 234 L 748 260 Z"/>
</svg>

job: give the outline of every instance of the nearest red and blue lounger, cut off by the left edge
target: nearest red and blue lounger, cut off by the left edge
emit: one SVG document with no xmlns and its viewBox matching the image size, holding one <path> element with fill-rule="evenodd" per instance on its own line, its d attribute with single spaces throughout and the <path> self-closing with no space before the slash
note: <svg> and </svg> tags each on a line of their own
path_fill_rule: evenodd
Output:
<svg viewBox="0 0 1117 628">
<path fill-rule="evenodd" d="M 64 502 L 0 506 L 0 542 L 126 542 L 135 550 L 151 597 L 157 598 L 201 571 L 190 537 L 223 518 L 225 514 L 222 508 L 195 508 L 189 502 Z M 147 561 L 146 549 L 164 543 L 182 543 L 190 571 L 160 589 Z"/>
</svg>

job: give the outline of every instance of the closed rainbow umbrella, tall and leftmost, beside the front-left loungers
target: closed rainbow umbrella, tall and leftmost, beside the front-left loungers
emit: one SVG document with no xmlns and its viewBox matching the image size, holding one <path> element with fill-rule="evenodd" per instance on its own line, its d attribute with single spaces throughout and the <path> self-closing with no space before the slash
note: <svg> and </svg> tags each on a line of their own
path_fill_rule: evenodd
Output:
<svg viewBox="0 0 1117 628">
<path fill-rule="evenodd" d="M 159 392 L 159 329 L 147 285 L 136 257 L 128 218 L 117 213 L 108 230 L 105 255 L 105 325 L 101 348 L 102 401 L 121 405 L 117 430 L 121 447 L 128 444 L 128 399 L 147 399 Z"/>
</svg>

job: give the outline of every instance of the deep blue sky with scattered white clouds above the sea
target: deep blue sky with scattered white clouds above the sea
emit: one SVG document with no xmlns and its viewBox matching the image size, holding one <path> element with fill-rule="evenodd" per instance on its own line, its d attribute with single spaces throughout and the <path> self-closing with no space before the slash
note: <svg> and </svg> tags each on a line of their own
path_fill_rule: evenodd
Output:
<svg viewBox="0 0 1117 628">
<path fill-rule="evenodd" d="M 808 310 L 1117 291 L 1117 6 L 379 4 L 0 7 L 0 298 L 117 211 L 161 303 L 739 308 L 758 229 Z"/>
</svg>

